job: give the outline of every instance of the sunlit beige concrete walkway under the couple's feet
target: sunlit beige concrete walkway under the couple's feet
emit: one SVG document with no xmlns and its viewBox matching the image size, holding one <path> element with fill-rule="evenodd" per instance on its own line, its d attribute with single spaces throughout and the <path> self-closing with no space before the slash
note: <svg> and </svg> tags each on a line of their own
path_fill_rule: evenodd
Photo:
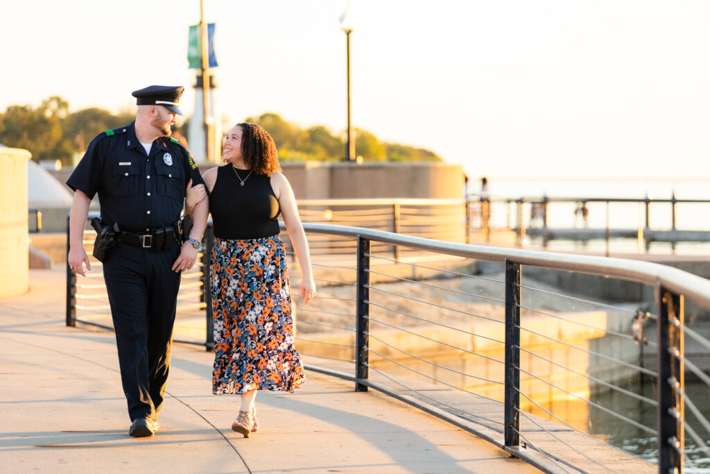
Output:
<svg viewBox="0 0 710 474">
<path fill-rule="evenodd" d="M 262 428 L 231 431 L 239 400 L 211 392 L 212 354 L 173 346 L 160 431 L 131 438 L 113 333 L 65 326 L 65 273 L 31 270 L 0 300 L 0 472 L 490 473 L 535 468 L 377 392 L 307 372 L 261 392 Z"/>
</svg>

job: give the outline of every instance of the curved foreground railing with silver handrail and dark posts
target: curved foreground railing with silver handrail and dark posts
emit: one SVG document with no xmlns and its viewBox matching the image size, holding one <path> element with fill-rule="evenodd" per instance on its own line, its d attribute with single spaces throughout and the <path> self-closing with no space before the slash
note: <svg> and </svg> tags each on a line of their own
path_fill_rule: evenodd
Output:
<svg viewBox="0 0 710 474">
<path fill-rule="evenodd" d="M 285 228 L 283 223 L 282 228 Z M 337 377 L 354 380 L 356 390 L 369 388 L 378 389 L 392 397 L 402 399 L 424 409 L 427 412 L 446 419 L 457 426 L 479 434 L 505 449 L 513 456 L 525 458 L 528 462 L 544 467 L 544 463 L 535 460 L 529 452 L 520 449 L 520 270 L 522 266 L 539 266 L 548 269 L 577 271 L 599 276 L 611 276 L 619 279 L 638 281 L 649 284 L 657 290 L 658 320 L 657 320 L 657 360 L 658 399 L 657 399 L 657 431 L 659 470 L 662 473 L 670 470 L 682 471 L 684 464 L 684 298 L 692 298 L 704 308 L 710 308 L 710 281 L 689 274 L 679 269 L 650 262 L 639 262 L 630 259 L 610 259 L 574 254 L 557 254 L 553 252 L 533 252 L 523 249 L 504 249 L 484 247 L 471 244 L 455 244 L 421 237 L 397 235 L 392 232 L 370 230 L 361 227 L 342 227 L 336 225 L 304 224 L 306 232 L 324 235 L 339 235 L 354 237 L 357 240 L 357 281 L 356 281 L 356 364 L 355 374 L 346 375 L 343 372 L 328 370 L 323 367 L 308 367 L 312 370 L 327 373 Z M 68 221 L 67 221 L 68 229 Z M 214 239 L 212 229 L 208 227 L 205 243 Z M 68 233 L 68 230 L 67 230 Z M 68 235 L 67 235 L 68 237 Z M 506 377 L 505 377 L 505 427 L 504 439 L 498 440 L 488 433 L 477 432 L 470 424 L 457 419 L 456 416 L 432 409 L 422 402 L 410 397 L 403 397 L 388 387 L 383 387 L 369 379 L 368 347 L 369 335 L 369 265 L 370 242 L 402 245 L 413 249 L 438 252 L 472 259 L 484 259 L 506 264 Z M 68 239 L 67 239 L 68 247 Z M 208 254 L 207 247 L 204 254 Z M 209 257 L 204 257 L 209 262 Z M 68 266 L 67 266 L 68 267 Z M 207 271 L 205 271 L 207 273 Z M 209 282 L 209 276 L 205 279 Z M 67 268 L 67 325 L 75 325 L 75 276 Z M 206 288 L 205 288 L 206 289 Z M 209 301 L 209 291 L 205 293 L 205 301 Z M 212 305 L 207 304 L 206 318 L 208 334 L 205 345 L 209 346 L 209 328 L 212 322 Z M 709 343 L 710 344 L 710 343 Z M 545 467 L 547 469 L 547 467 Z"/>
</svg>

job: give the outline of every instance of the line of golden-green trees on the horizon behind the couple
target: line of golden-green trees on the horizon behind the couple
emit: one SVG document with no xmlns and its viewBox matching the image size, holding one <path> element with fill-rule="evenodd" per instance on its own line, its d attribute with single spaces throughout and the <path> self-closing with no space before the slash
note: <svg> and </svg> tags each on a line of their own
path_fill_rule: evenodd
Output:
<svg viewBox="0 0 710 474">
<path fill-rule="evenodd" d="M 0 112 L 0 144 L 26 149 L 32 159 L 72 163 L 84 153 L 94 136 L 133 121 L 130 111 L 113 114 L 98 107 L 70 112 L 69 102 L 53 96 L 38 107 L 11 105 Z M 283 161 L 339 161 L 345 155 L 345 137 L 333 134 L 322 125 L 302 129 L 278 114 L 249 117 L 246 122 L 260 124 L 273 137 Z M 182 127 L 187 129 L 187 122 Z M 356 154 L 366 161 L 442 161 L 436 153 L 413 146 L 391 144 L 361 129 L 354 130 Z"/>
</svg>

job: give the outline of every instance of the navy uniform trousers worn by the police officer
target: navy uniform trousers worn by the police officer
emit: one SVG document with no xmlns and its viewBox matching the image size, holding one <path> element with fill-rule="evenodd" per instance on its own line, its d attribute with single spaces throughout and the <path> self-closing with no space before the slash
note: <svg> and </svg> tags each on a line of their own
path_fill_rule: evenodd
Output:
<svg viewBox="0 0 710 474">
<path fill-rule="evenodd" d="M 117 242 L 104 262 L 131 421 L 156 418 L 163 405 L 180 289 L 180 273 L 170 267 L 179 254 L 174 240 L 163 252 Z"/>
</svg>

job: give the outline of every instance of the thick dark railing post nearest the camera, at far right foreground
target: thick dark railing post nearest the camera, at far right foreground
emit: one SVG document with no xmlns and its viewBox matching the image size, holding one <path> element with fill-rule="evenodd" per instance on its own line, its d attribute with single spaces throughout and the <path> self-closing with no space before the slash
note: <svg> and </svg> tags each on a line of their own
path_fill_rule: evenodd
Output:
<svg viewBox="0 0 710 474">
<path fill-rule="evenodd" d="M 683 296 L 658 285 L 658 472 L 681 473 L 683 469 L 684 390 Z"/>
</svg>

